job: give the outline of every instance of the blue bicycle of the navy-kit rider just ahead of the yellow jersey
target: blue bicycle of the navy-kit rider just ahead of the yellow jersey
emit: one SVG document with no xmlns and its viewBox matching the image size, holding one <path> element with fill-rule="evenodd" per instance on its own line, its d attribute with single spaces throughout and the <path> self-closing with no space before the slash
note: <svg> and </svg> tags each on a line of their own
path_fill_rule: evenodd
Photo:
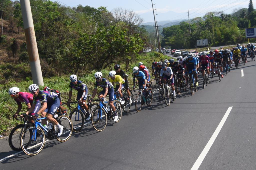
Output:
<svg viewBox="0 0 256 170">
<path fill-rule="evenodd" d="M 103 101 L 103 103 L 108 103 L 108 101 Z M 105 129 L 107 125 L 107 120 L 114 120 L 113 114 L 112 114 L 112 108 L 110 106 L 106 106 L 103 104 L 102 101 L 100 100 L 99 106 L 94 108 L 92 111 L 92 126 L 95 130 L 98 132 L 101 132 L 102 130 Z M 119 101 L 114 100 L 113 105 L 116 109 L 116 114 L 118 115 L 118 120 L 116 122 L 119 122 L 121 117 L 122 117 L 122 108 L 121 104 Z"/>
</svg>

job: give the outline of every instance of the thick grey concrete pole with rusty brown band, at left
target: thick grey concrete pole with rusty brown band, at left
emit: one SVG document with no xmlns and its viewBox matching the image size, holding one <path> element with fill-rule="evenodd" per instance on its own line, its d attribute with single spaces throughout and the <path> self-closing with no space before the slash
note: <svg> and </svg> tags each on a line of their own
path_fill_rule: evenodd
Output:
<svg viewBox="0 0 256 170">
<path fill-rule="evenodd" d="M 22 12 L 23 25 L 25 30 L 28 57 L 33 83 L 43 86 L 44 81 L 38 55 L 36 35 L 29 0 L 20 0 L 20 7 Z"/>
</svg>

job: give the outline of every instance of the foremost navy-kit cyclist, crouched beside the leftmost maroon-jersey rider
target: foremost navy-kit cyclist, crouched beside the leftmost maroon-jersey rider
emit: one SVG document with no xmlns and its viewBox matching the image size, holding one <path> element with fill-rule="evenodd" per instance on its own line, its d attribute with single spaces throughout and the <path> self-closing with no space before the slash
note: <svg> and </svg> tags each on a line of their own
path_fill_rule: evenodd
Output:
<svg viewBox="0 0 256 170">
<path fill-rule="evenodd" d="M 63 126 L 61 126 L 56 119 L 53 118 L 53 115 L 57 111 L 57 109 L 60 106 L 60 99 L 58 98 L 58 95 L 56 93 L 53 93 L 51 91 L 44 91 L 39 90 L 38 85 L 31 84 L 28 87 L 28 91 L 33 95 L 33 104 L 31 108 L 22 116 L 26 116 L 29 113 L 31 115 L 34 115 L 35 117 L 38 117 L 38 115 L 41 113 L 41 117 L 45 117 L 47 114 L 47 120 L 55 124 L 58 129 L 58 137 L 62 135 Z M 42 101 L 42 107 L 40 108 L 40 101 Z M 39 110 L 40 108 L 40 110 Z M 42 119 L 43 126 L 47 129 L 47 122 L 46 119 Z"/>
</svg>

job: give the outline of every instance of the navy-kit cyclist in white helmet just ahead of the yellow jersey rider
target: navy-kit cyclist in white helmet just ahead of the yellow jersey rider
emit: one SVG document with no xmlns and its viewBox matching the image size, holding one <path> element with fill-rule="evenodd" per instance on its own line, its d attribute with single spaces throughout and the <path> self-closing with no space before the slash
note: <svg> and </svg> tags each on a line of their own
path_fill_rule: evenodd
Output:
<svg viewBox="0 0 256 170">
<path fill-rule="evenodd" d="M 94 96 L 96 95 L 97 92 L 97 86 L 100 86 L 103 88 L 103 90 L 99 93 L 98 98 L 103 102 L 104 98 L 109 95 L 109 105 L 111 107 L 111 109 L 113 110 L 114 113 L 114 122 L 116 122 L 118 120 L 118 115 L 116 114 L 116 110 L 115 110 L 115 106 L 113 104 L 114 101 L 114 87 L 112 85 L 112 83 L 110 83 L 107 79 L 102 78 L 102 73 L 101 72 L 96 72 L 94 74 L 94 77 L 96 79 L 95 83 L 94 83 L 94 90 L 92 92 L 92 97 L 90 98 L 90 100 L 92 100 L 94 98 Z"/>
</svg>

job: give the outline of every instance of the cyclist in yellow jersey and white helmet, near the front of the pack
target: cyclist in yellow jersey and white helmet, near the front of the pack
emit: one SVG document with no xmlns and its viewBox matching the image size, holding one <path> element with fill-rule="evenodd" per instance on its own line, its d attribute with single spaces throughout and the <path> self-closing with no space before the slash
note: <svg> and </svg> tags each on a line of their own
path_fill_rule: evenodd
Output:
<svg viewBox="0 0 256 170">
<path fill-rule="evenodd" d="M 110 71 L 109 77 L 110 77 L 109 82 L 112 83 L 112 85 L 114 85 L 116 83 L 115 92 L 119 93 L 120 103 L 124 104 L 124 98 L 123 98 L 123 94 L 122 94 L 122 90 L 124 89 L 124 86 L 125 86 L 124 79 L 122 79 L 122 77 L 120 75 L 116 75 L 115 71 Z"/>
</svg>

